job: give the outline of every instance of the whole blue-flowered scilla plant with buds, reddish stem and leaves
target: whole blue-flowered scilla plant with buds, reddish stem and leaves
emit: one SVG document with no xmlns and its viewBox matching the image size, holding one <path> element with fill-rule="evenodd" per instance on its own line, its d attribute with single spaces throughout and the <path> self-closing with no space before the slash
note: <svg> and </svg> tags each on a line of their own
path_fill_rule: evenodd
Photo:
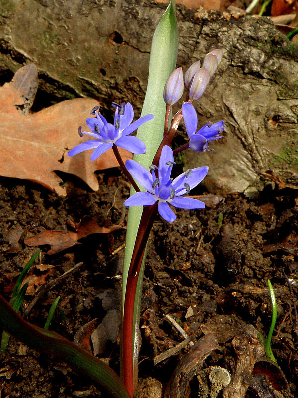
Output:
<svg viewBox="0 0 298 398">
<path fill-rule="evenodd" d="M 110 396 L 117 398 L 132 398 L 136 387 L 136 330 L 139 325 L 146 246 L 154 220 L 161 216 L 167 222 L 174 222 L 176 215 L 172 207 L 205 207 L 202 201 L 187 195 L 204 179 L 208 167 L 188 169 L 173 178 L 174 155 L 186 149 L 198 153 L 208 151 L 210 142 L 221 138 L 224 130 L 223 121 L 207 123 L 198 128 L 196 111 L 192 105 L 207 88 L 221 61 L 222 51 L 217 49 L 209 52 L 202 67 L 199 61 L 195 62 L 183 78 L 182 68 L 174 70 L 177 48 L 175 4 L 170 1 L 153 37 L 148 88 L 141 118 L 133 121 L 134 110 L 130 103 L 113 102 L 115 116 L 113 123 L 109 123 L 95 107 L 91 117 L 86 119 L 90 131 L 78 128 L 81 137 L 88 135 L 92 139 L 82 142 L 68 153 L 69 156 L 75 156 L 92 150 L 92 161 L 112 149 L 132 186 L 131 195 L 125 201 L 130 210 L 123 271 L 121 378 L 103 362 L 58 334 L 25 322 L 0 298 L 1 327 L 35 349 L 63 358 L 77 372 L 84 373 Z M 181 99 L 185 89 L 185 101 L 172 117 L 172 106 Z M 171 143 L 182 118 L 188 142 L 173 151 Z M 137 136 L 132 136 L 137 129 Z M 124 164 L 119 147 L 132 152 L 134 159 Z"/>
</svg>

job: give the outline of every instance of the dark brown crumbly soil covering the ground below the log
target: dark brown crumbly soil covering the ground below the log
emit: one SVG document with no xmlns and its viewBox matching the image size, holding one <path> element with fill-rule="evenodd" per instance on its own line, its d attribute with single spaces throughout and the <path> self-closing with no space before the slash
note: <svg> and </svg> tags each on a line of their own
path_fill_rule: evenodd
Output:
<svg viewBox="0 0 298 398">
<path fill-rule="evenodd" d="M 72 226 L 86 215 L 105 227 L 121 221 L 121 203 L 129 193 L 123 176 L 112 169 L 98 178 L 98 192 L 88 191 L 78 181 L 67 182 L 66 198 L 31 183 L 1 179 L 0 291 L 7 300 L 17 276 L 38 249 L 26 246 L 26 237 L 43 230 L 73 231 Z M 219 315 L 226 315 L 225 320 L 251 324 L 267 335 L 271 322 L 267 288 L 270 279 L 278 302 L 272 350 L 291 393 L 298 396 L 297 192 L 268 187 L 255 199 L 233 194 L 216 204 L 217 198 L 211 197 L 208 203 L 213 204 L 205 210 L 177 210 L 176 222 L 169 224 L 160 218 L 155 222 L 141 310 L 141 381 L 150 377 L 149 384 L 150 380 L 159 381 L 165 388 L 185 352 L 154 366 L 154 357 L 183 341 L 165 320 L 166 314 L 174 317 L 193 341 L 203 336 L 201 325 Z M 203 193 L 203 189 L 196 194 Z M 124 249 L 114 251 L 124 242 L 122 228 L 110 234 L 90 235 L 80 241 L 81 245 L 55 255 L 47 255 L 49 246 L 41 246 L 42 253 L 35 264 L 53 267 L 32 267 L 30 275 L 36 277 L 36 285 L 31 285 L 21 314 L 37 289 L 42 289 L 42 283 L 47 284 L 83 262 L 39 298 L 26 318 L 43 327 L 51 303 L 60 295 L 50 329 L 71 341 L 77 340 L 75 335 L 86 334 L 84 347 L 92 349 L 90 333 L 83 327 L 93 319 L 100 323 L 107 313 L 100 293 L 106 289 L 120 291 Z M 186 317 L 190 307 L 193 314 L 190 310 L 191 316 Z M 232 372 L 236 355 L 231 341 L 232 338 L 223 343 L 219 339 L 222 351 L 213 352 L 205 366 L 224 366 Z M 101 356 L 109 358 L 110 365 L 118 371 L 118 343 L 107 344 L 103 351 Z M 61 361 L 35 352 L 14 338 L 0 358 L 0 397 L 103 397 Z M 192 392 L 191 396 L 196 395 Z M 264 393 L 262 397 L 271 396 Z"/>
</svg>

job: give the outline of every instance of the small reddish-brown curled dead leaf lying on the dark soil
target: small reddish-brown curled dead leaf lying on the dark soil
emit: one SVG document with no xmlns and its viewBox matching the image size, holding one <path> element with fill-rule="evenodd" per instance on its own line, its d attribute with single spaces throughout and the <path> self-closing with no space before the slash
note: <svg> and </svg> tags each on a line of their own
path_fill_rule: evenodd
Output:
<svg viewBox="0 0 298 398">
<path fill-rule="evenodd" d="M 26 238 L 24 243 L 27 246 L 50 245 L 51 249 L 47 254 L 56 254 L 74 245 L 80 244 L 82 239 L 93 233 L 110 233 L 122 228 L 121 225 L 113 225 L 111 228 L 100 227 L 94 220 L 84 217 L 72 231 L 43 231 L 34 236 Z"/>
</svg>

